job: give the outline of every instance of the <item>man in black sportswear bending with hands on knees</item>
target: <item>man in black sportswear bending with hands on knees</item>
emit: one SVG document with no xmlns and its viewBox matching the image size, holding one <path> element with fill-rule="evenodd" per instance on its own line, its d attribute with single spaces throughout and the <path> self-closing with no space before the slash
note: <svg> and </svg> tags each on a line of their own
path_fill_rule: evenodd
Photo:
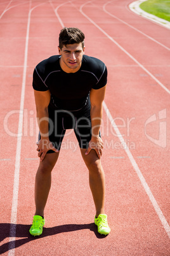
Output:
<svg viewBox="0 0 170 256">
<path fill-rule="evenodd" d="M 42 60 L 34 69 L 32 85 L 39 125 L 40 162 L 35 181 L 36 213 L 29 230 L 32 236 L 42 234 L 51 171 L 66 129 L 74 129 L 89 170 L 98 232 L 105 235 L 110 232 L 104 210 L 105 174 L 101 166 L 103 141 L 100 136 L 107 68 L 101 60 L 84 55 L 84 50 L 83 32 L 65 27 L 59 35 L 59 55 Z"/>
</svg>

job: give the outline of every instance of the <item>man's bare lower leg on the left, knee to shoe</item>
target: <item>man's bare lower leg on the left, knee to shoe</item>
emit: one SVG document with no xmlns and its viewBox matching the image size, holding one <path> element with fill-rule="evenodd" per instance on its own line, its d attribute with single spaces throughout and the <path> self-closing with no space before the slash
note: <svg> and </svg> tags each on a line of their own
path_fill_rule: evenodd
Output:
<svg viewBox="0 0 170 256">
<path fill-rule="evenodd" d="M 56 164 L 58 155 L 59 152 L 47 153 L 44 160 L 39 163 L 35 184 L 35 215 L 44 216 L 44 208 L 46 206 L 46 201 L 51 187 L 51 171 Z"/>
</svg>

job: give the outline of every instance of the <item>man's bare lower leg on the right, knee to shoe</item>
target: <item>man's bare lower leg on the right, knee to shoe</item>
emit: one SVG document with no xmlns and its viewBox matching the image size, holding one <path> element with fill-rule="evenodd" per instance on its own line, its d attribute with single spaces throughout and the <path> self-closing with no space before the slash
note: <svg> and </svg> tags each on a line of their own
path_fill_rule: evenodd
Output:
<svg viewBox="0 0 170 256">
<path fill-rule="evenodd" d="M 86 149 L 81 148 L 82 158 L 89 170 L 89 187 L 96 207 L 96 217 L 98 217 L 105 213 L 105 173 L 95 150 L 91 150 L 88 155 L 85 155 L 85 152 Z"/>
</svg>

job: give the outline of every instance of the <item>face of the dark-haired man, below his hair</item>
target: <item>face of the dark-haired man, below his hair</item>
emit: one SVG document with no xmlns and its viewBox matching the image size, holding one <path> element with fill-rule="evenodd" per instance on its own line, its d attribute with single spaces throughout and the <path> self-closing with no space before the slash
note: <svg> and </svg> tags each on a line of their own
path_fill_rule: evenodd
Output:
<svg viewBox="0 0 170 256">
<path fill-rule="evenodd" d="M 58 47 L 58 52 L 62 55 L 60 66 L 66 73 L 75 73 L 81 68 L 82 55 L 85 46 L 82 43 L 74 43 L 73 45 L 64 45 L 62 50 Z"/>
</svg>

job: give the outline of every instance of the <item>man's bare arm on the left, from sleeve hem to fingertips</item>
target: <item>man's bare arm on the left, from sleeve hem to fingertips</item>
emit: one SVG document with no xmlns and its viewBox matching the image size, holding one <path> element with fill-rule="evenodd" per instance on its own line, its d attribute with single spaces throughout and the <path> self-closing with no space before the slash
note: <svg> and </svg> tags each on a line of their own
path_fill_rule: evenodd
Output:
<svg viewBox="0 0 170 256">
<path fill-rule="evenodd" d="M 49 90 L 45 92 L 39 92 L 34 90 L 34 97 L 36 101 L 36 111 L 37 111 L 37 123 L 39 125 L 39 131 L 41 134 L 41 139 L 37 143 L 37 151 L 39 151 L 38 156 L 41 161 L 44 159 L 46 152 L 48 150 L 54 150 L 58 152 L 53 144 L 49 141 L 48 134 L 48 124 L 49 124 L 49 115 L 48 115 L 48 105 L 50 101 L 50 92 Z"/>
</svg>

